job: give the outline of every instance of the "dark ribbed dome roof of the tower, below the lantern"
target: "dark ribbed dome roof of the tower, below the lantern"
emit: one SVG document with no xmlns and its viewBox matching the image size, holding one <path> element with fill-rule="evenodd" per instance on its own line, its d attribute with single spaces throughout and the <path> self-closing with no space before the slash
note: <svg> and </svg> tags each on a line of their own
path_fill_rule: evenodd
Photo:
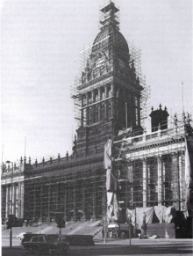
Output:
<svg viewBox="0 0 193 256">
<path fill-rule="evenodd" d="M 97 50 L 104 48 L 109 43 L 116 43 L 118 44 L 118 48 L 125 50 L 125 53 L 129 53 L 129 48 L 125 37 L 115 26 L 112 26 L 111 24 L 109 26 L 104 26 L 101 32 L 96 35 L 92 52 L 96 52 Z"/>
</svg>

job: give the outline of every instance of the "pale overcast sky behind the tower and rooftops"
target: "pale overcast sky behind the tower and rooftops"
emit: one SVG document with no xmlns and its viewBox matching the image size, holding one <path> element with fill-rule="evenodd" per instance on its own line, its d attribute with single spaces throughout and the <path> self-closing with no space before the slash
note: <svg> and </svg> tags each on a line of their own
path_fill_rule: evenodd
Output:
<svg viewBox="0 0 193 256">
<path fill-rule="evenodd" d="M 70 86 L 91 45 L 104 0 L 10 0 L 1 4 L 1 150 L 64 157 L 77 128 Z M 142 49 L 150 106 L 193 110 L 193 1 L 117 0 L 120 32 Z M 150 111 L 150 110 L 149 110 Z M 147 127 L 149 127 L 147 120 Z M 72 129 L 73 127 L 73 129 Z M 26 147 L 25 147 L 26 137 Z M 4 145 L 4 147 L 3 147 Z"/>
</svg>

